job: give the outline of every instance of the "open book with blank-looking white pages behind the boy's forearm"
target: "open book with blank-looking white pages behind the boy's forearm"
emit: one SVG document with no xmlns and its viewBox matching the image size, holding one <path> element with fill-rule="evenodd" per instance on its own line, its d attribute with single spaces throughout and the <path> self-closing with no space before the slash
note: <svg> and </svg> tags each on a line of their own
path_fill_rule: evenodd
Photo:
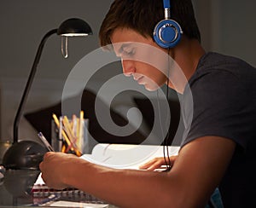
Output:
<svg viewBox="0 0 256 208">
<path fill-rule="evenodd" d="M 176 155 L 179 147 L 169 146 L 166 149 L 169 156 Z M 140 165 L 156 157 L 164 157 L 164 147 L 157 145 L 131 145 L 131 144 L 97 144 L 91 154 L 84 154 L 82 159 L 97 165 L 117 169 L 138 169 Z"/>
</svg>

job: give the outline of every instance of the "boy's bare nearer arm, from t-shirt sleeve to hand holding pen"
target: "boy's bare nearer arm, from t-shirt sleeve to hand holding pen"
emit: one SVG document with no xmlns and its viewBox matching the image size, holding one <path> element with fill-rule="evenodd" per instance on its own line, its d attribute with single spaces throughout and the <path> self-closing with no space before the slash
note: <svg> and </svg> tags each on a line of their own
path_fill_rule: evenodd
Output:
<svg viewBox="0 0 256 208">
<path fill-rule="evenodd" d="M 61 153 L 46 153 L 42 177 L 54 188 L 72 186 L 120 207 L 201 207 L 230 163 L 236 144 L 205 136 L 186 144 L 169 172 L 116 170 Z"/>
</svg>

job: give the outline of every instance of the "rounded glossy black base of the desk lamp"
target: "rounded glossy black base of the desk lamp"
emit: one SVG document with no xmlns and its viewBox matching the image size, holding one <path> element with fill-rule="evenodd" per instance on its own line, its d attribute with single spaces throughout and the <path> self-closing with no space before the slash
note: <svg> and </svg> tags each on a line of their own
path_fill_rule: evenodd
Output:
<svg viewBox="0 0 256 208">
<path fill-rule="evenodd" d="M 38 142 L 21 141 L 14 143 L 3 156 L 6 169 L 38 170 L 47 149 Z"/>
</svg>

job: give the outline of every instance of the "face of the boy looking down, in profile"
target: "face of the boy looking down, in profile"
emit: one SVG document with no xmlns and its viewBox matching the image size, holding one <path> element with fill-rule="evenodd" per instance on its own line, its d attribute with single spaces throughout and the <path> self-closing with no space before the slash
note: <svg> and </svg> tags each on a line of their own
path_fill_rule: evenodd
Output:
<svg viewBox="0 0 256 208">
<path fill-rule="evenodd" d="M 157 90 L 166 83 L 167 62 L 165 49 L 152 38 L 127 28 L 116 29 L 111 37 L 113 49 L 121 58 L 125 76 L 132 76 L 147 90 Z"/>
</svg>

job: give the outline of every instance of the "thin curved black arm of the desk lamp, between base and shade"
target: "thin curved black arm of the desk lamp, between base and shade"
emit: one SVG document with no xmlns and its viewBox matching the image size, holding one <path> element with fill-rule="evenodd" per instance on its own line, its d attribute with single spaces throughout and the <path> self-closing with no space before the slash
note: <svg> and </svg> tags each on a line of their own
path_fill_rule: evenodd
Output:
<svg viewBox="0 0 256 208">
<path fill-rule="evenodd" d="M 24 90 L 23 95 L 21 97 L 20 106 L 19 106 L 18 111 L 17 111 L 16 116 L 15 116 L 14 142 L 13 143 L 18 142 L 18 126 L 19 126 L 19 123 L 20 123 L 20 117 L 21 117 L 21 114 L 23 113 L 23 109 L 24 109 L 24 106 L 26 104 L 27 95 L 29 93 L 29 90 L 31 89 L 32 81 L 33 81 L 33 78 L 34 78 L 35 73 L 37 71 L 38 62 L 40 60 L 42 51 L 44 49 L 44 43 L 49 38 L 49 36 L 51 36 L 52 34 L 55 34 L 55 33 L 57 33 L 57 29 L 53 29 L 53 30 L 47 32 L 44 35 L 44 38 L 41 40 L 41 43 L 38 46 L 37 55 L 35 56 L 35 60 L 34 60 L 33 65 L 32 65 L 31 72 L 30 72 L 29 77 L 28 77 L 27 82 L 26 82 L 25 90 Z"/>
</svg>

